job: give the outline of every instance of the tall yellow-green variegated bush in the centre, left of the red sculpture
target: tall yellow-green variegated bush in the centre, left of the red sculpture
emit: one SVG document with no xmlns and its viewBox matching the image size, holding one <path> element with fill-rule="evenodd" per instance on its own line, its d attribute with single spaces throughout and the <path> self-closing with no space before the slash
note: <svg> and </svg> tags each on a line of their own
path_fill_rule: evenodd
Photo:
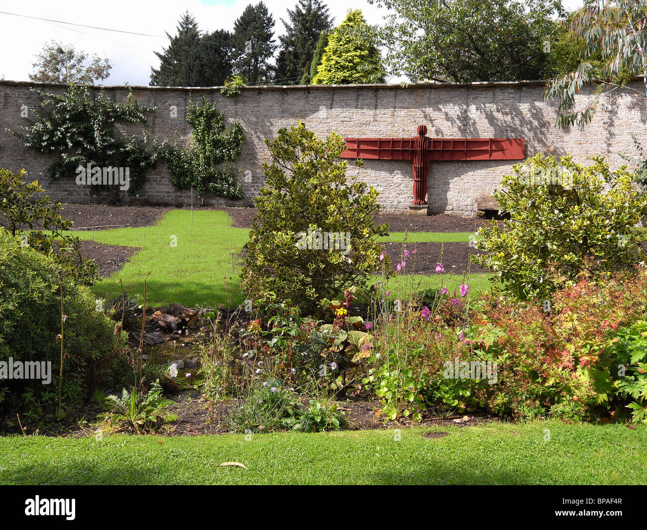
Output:
<svg viewBox="0 0 647 530">
<path fill-rule="evenodd" d="M 327 304 L 353 285 L 362 286 L 383 267 L 375 226 L 378 192 L 346 177 L 339 154 L 344 140 L 319 140 L 302 122 L 266 140 L 271 164 L 263 164 L 266 185 L 254 202 L 258 215 L 247 243 L 243 290 L 250 299 L 274 293 L 303 315 Z"/>
</svg>

